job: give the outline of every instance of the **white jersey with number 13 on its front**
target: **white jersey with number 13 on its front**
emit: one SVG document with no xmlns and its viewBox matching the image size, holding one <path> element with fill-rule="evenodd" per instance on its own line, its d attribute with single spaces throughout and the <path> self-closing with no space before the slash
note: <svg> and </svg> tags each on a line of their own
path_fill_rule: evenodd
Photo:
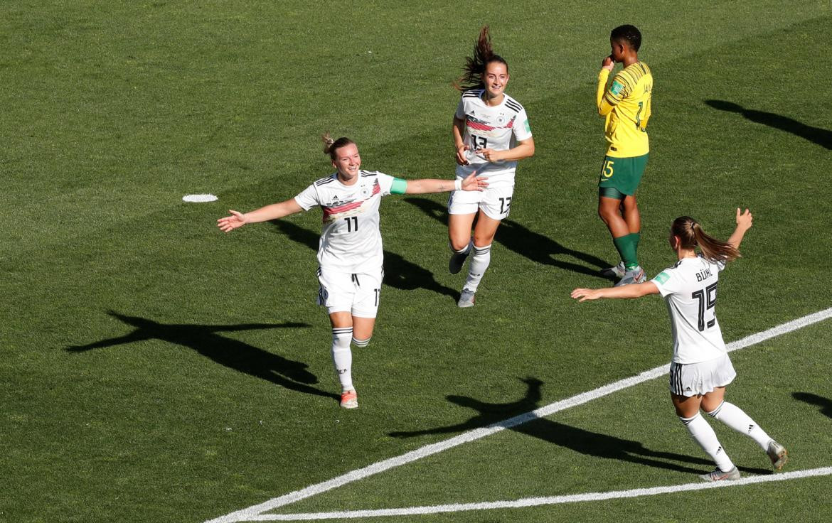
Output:
<svg viewBox="0 0 832 523">
<path fill-rule="evenodd" d="M 498 106 L 488 106 L 483 101 L 484 89 L 463 92 L 455 116 L 465 121 L 463 141 L 468 150 L 468 170 L 457 169 L 458 176 L 468 175 L 471 169 L 477 170 L 478 176 L 488 178 L 488 186 L 514 185 L 514 170 L 518 162 L 489 162 L 474 153 L 476 149 L 508 150 L 518 141 L 532 137 L 532 128 L 528 124 L 526 110 L 511 96 L 503 93 L 503 102 Z M 462 167 L 460 165 L 459 167 Z"/>
</svg>

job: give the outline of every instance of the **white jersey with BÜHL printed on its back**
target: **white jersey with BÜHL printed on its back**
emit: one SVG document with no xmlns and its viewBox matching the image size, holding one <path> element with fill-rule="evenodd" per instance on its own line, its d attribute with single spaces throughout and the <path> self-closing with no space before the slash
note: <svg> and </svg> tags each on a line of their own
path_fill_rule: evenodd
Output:
<svg viewBox="0 0 832 523">
<path fill-rule="evenodd" d="M 667 303 L 673 328 L 673 362 L 699 363 L 725 354 L 716 321 L 716 281 L 724 262 L 701 254 L 682 258 L 651 279 Z"/>
</svg>

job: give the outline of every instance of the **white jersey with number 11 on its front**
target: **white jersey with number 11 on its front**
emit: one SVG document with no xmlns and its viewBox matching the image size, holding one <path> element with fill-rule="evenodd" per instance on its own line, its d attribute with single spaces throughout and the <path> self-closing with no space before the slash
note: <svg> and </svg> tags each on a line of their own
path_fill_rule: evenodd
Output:
<svg viewBox="0 0 832 523">
<path fill-rule="evenodd" d="M 378 171 L 361 170 L 354 185 L 344 185 L 335 173 L 295 196 L 304 210 L 319 205 L 324 211 L 318 248 L 321 268 L 360 273 L 382 266 L 379 202 L 390 194 L 393 180 Z"/>
</svg>

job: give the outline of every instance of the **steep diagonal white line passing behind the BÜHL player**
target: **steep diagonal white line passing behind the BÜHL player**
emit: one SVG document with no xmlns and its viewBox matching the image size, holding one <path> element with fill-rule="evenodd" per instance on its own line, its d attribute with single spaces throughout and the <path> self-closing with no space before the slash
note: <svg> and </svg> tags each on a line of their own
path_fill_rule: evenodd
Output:
<svg viewBox="0 0 832 523">
<path fill-rule="evenodd" d="M 775 336 L 790 333 L 792 331 L 804 328 L 808 325 L 811 325 L 812 323 L 818 323 L 830 317 L 832 317 L 832 308 L 826 308 L 825 310 L 822 310 L 820 312 L 809 314 L 808 316 L 804 316 L 803 318 L 797 318 L 788 323 L 782 323 L 780 325 L 777 325 L 776 327 L 772 327 L 761 333 L 751 334 L 750 336 L 746 336 L 745 338 L 729 343 L 728 350 L 735 351 L 739 350 L 740 348 L 749 347 L 750 345 L 754 345 L 755 343 L 764 342 L 765 340 L 774 338 Z M 617 392 L 627 387 L 638 385 L 639 383 L 646 382 L 648 380 L 653 379 L 654 377 L 660 377 L 666 374 L 669 371 L 669 368 L 669 364 L 661 365 L 660 367 L 656 368 L 651 368 L 649 371 L 637 374 L 636 376 L 626 377 L 617 382 L 612 382 L 608 385 L 604 385 L 603 387 L 598 387 L 592 391 L 582 392 L 577 396 L 569 397 L 559 402 L 550 403 L 545 407 L 540 407 L 531 412 L 526 412 L 525 414 L 520 414 L 519 416 L 508 418 L 507 420 L 503 420 L 502 422 L 493 423 L 492 425 L 488 425 L 488 427 L 481 427 L 468 432 L 463 432 L 458 436 L 451 437 L 442 442 L 431 443 L 430 445 L 419 447 L 414 451 L 409 451 L 400 456 L 391 457 L 383 461 L 376 461 L 372 465 L 365 466 L 364 468 L 349 471 L 342 476 L 337 476 L 332 478 L 331 480 L 307 486 L 303 489 L 300 489 L 300 491 L 294 491 L 283 496 L 275 497 L 273 499 L 270 499 L 269 501 L 265 501 L 263 503 L 260 503 L 259 505 L 250 506 L 241 511 L 231 512 L 230 514 L 226 514 L 225 516 L 220 516 L 213 520 L 206 521 L 206 523 L 235 523 L 237 521 L 259 521 L 257 517 L 263 514 L 263 512 L 272 511 L 276 508 L 279 508 L 280 506 L 290 505 L 291 503 L 295 503 L 295 501 L 300 501 L 311 496 L 317 496 L 322 492 L 338 488 L 339 486 L 347 485 L 348 483 L 352 483 L 353 481 L 359 481 L 364 479 L 365 477 L 374 476 L 379 472 L 388 471 L 391 468 L 405 465 L 407 463 L 410 463 L 411 461 L 417 461 L 422 459 L 423 457 L 432 456 L 433 454 L 437 454 L 438 452 L 447 451 L 449 448 L 458 447 L 463 443 L 474 442 L 480 438 L 491 436 L 492 434 L 503 431 L 507 428 L 517 427 L 522 423 L 531 422 L 541 417 L 551 416 L 555 412 L 560 412 L 570 407 L 577 407 L 578 405 L 591 402 L 592 400 L 597 399 L 599 397 L 604 397 L 609 394 L 612 394 L 612 392 Z"/>
</svg>

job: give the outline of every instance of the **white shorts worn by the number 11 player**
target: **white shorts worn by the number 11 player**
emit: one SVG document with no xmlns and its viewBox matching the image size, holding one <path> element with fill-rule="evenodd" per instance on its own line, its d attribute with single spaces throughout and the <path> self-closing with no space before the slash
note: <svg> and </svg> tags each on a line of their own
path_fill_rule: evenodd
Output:
<svg viewBox="0 0 832 523">
<path fill-rule="evenodd" d="M 341 273 L 318 268 L 318 304 L 327 313 L 349 312 L 359 318 L 375 318 L 379 311 L 384 269 L 374 273 Z"/>
</svg>

